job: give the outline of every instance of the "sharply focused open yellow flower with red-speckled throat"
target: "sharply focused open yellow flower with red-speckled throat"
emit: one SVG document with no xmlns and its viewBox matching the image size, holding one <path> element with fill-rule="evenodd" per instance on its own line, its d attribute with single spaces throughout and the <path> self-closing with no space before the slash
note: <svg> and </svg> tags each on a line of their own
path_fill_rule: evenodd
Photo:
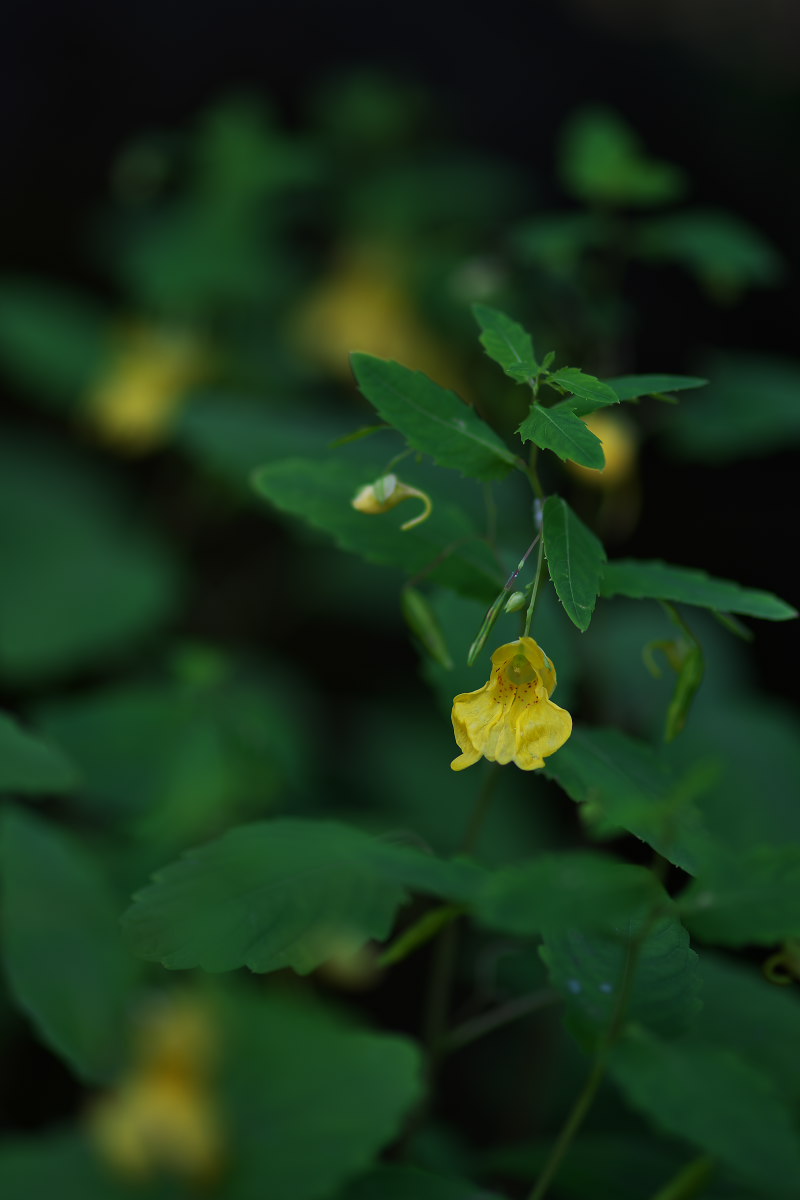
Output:
<svg viewBox="0 0 800 1200">
<path fill-rule="evenodd" d="M 570 714 L 549 698 L 555 668 L 533 637 L 500 646 L 492 664 L 488 683 L 453 701 L 453 732 L 462 754 L 450 766 L 463 770 L 482 756 L 516 762 L 523 770 L 543 767 L 572 732 Z"/>
</svg>

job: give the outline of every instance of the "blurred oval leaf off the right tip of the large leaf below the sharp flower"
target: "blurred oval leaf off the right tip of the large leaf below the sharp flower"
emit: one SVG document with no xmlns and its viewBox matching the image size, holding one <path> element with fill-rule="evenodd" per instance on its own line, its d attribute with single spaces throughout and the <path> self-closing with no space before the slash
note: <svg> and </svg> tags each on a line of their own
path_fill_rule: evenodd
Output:
<svg viewBox="0 0 800 1200">
<path fill-rule="evenodd" d="M 471 901 L 477 920 L 506 934 L 535 936 L 614 929 L 658 899 L 651 871 L 603 854 L 543 854 L 486 876 Z"/>
</svg>

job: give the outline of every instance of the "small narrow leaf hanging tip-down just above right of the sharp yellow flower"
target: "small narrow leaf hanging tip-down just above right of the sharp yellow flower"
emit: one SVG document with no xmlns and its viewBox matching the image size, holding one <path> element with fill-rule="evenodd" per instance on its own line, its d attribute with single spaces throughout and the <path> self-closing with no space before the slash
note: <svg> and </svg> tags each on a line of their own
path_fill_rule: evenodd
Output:
<svg viewBox="0 0 800 1200">
<path fill-rule="evenodd" d="M 555 593 L 570 620 L 585 632 L 595 608 L 606 551 L 560 496 L 549 496 L 545 502 L 542 535 Z"/>
</svg>

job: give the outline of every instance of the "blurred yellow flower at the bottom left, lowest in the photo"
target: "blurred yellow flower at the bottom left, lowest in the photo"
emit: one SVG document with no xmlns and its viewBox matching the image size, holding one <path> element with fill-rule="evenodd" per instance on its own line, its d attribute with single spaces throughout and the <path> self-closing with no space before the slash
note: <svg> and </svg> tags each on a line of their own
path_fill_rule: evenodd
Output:
<svg viewBox="0 0 800 1200">
<path fill-rule="evenodd" d="M 89 1114 L 90 1136 L 121 1175 L 158 1171 L 207 1183 L 223 1162 L 211 1086 L 215 1037 L 205 1006 L 167 1000 L 143 1021 L 133 1067 Z"/>
</svg>

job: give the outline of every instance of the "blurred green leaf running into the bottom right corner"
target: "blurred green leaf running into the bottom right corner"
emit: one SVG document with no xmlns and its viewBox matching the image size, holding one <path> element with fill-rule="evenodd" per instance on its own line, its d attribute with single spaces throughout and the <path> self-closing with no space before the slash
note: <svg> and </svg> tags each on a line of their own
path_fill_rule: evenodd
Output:
<svg viewBox="0 0 800 1200">
<path fill-rule="evenodd" d="M 730 1050 L 696 1038 L 664 1043 L 630 1031 L 610 1073 L 627 1102 L 658 1128 L 712 1154 L 771 1196 L 796 1195 L 800 1138 L 769 1080 Z"/>
</svg>

